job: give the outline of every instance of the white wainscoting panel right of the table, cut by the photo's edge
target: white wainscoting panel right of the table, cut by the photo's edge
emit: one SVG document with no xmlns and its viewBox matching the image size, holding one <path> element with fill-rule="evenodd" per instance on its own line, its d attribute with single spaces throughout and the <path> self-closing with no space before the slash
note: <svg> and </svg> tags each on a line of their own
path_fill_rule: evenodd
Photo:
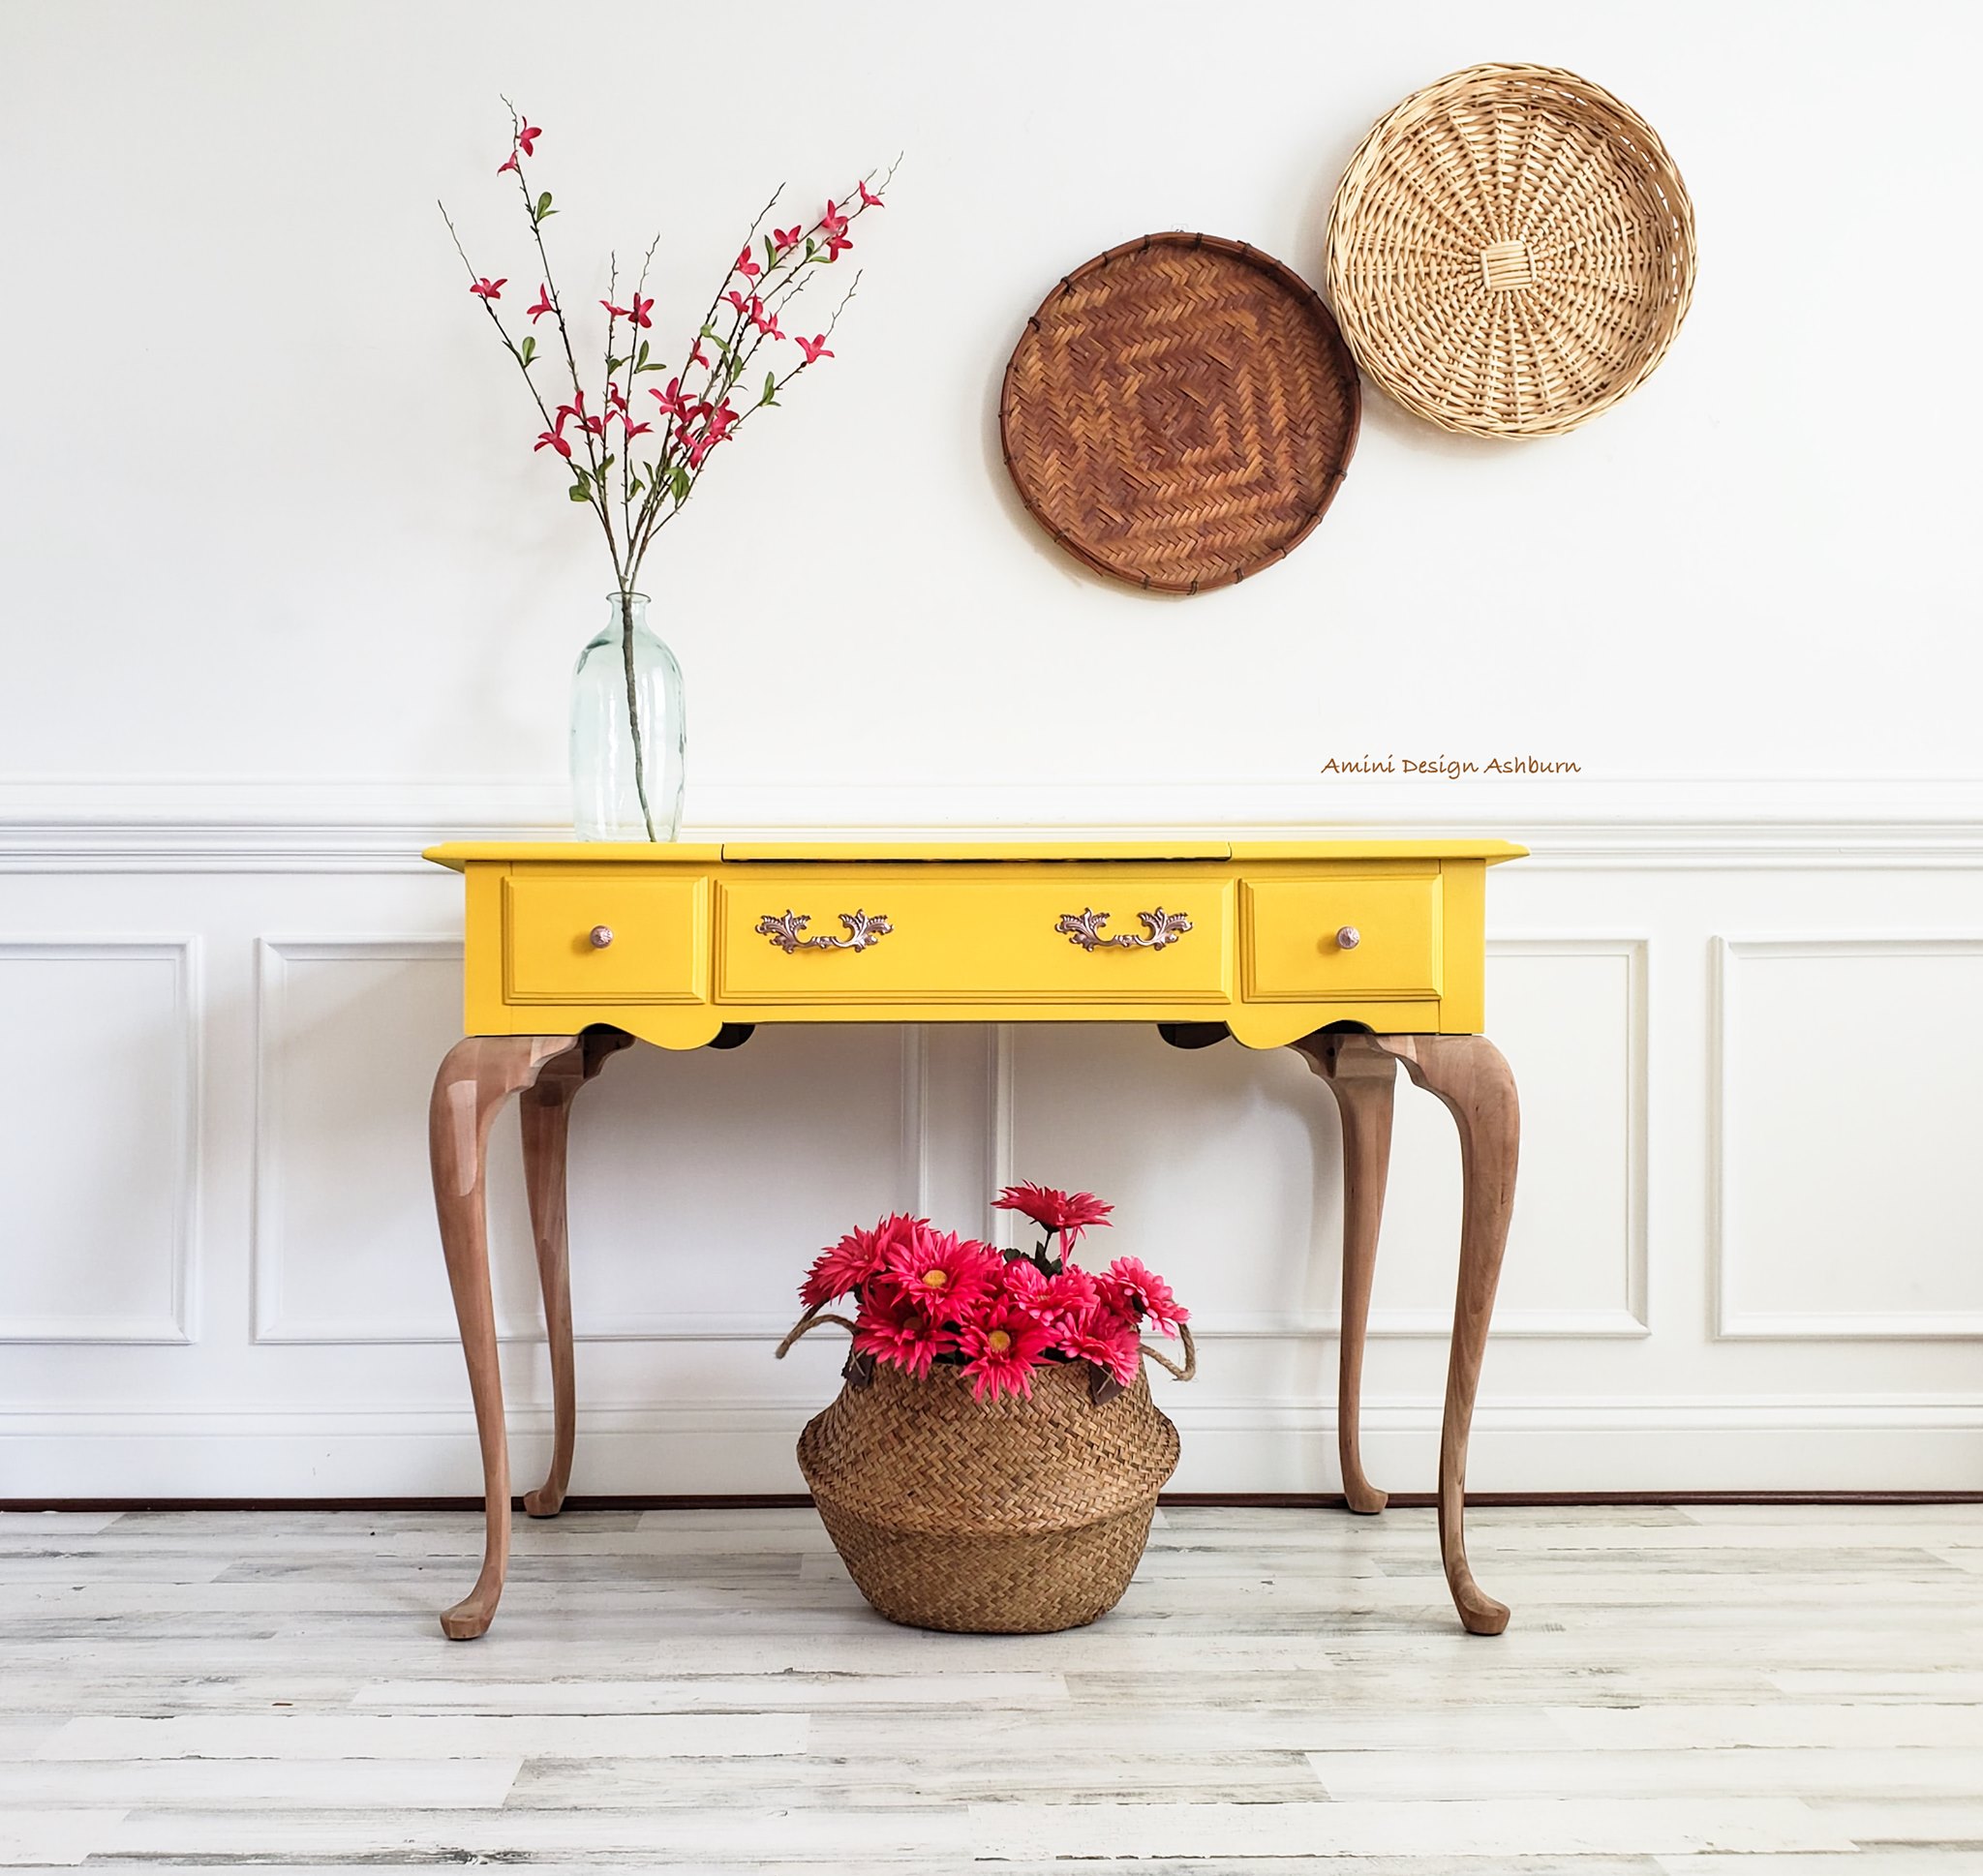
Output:
<svg viewBox="0 0 1983 1876">
<path fill-rule="evenodd" d="M 1983 936 L 1715 958 L 1719 1333 L 1983 1337 Z"/>
</svg>

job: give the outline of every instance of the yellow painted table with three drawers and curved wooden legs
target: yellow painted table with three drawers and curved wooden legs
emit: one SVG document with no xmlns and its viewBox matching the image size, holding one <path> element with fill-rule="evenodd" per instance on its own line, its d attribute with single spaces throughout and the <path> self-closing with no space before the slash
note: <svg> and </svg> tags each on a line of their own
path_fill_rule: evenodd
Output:
<svg viewBox="0 0 1983 1876">
<path fill-rule="evenodd" d="M 1467 1569 L 1467 1430 L 1509 1208 L 1519 1118 L 1481 1033 L 1487 869 L 1507 841 L 1025 845 L 450 845 L 466 875 L 466 1029 L 440 1065 L 428 1146 L 440 1241 L 482 1442 L 488 1539 L 454 1640 L 496 1614 L 510 1561 L 510 1452 L 490 1301 L 484 1160 L 522 1097 L 524 1176 L 551 1347 L 555 1442 L 531 1517 L 571 1477 L 571 1101 L 637 1037 L 736 1047 L 758 1023 L 1156 1023 L 1200 1047 L 1299 1049 L 1342 1113 L 1337 1446 L 1352 1511 L 1384 1493 L 1358 1458 L 1370 1277 L 1396 1063 L 1459 1128 L 1459 1295 L 1440 1438 L 1440 1549 L 1459 1620 L 1507 1608 Z"/>
</svg>

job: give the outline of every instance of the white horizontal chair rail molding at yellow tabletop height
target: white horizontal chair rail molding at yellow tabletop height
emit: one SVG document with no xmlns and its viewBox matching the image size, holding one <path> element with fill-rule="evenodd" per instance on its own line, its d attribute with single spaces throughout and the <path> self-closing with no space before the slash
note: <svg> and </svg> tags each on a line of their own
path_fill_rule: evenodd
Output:
<svg viewBox="0 0 1983 1876">
<path fill-rule="evenodd" d="M 690 837 L 1041 831 L 1275 837 L 1503 835 L 1531 867 L 1975 867 L 1983 777 L 1535 777 L 1505 781 L 722 781 Z M 412 873 L 440 839 L 557 837 L 555 783 L 0 781 L 0 871 Z"/>
</svg>

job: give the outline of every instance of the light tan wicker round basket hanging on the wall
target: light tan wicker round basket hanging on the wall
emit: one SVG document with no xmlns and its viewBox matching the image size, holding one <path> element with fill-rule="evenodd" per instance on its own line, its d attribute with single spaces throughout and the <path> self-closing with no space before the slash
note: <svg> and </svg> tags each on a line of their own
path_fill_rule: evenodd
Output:
<svg viewBox="0 0 1983 1876">
<path fill-rule="evenodd" d="M 1356 147 L 1329 297 L 1356 363 L 1471 436 L 1557 436 L 1646 381 L 1693 297 L 1693 204 L 1610 91 L 1469 65 Z"/>
</svg>

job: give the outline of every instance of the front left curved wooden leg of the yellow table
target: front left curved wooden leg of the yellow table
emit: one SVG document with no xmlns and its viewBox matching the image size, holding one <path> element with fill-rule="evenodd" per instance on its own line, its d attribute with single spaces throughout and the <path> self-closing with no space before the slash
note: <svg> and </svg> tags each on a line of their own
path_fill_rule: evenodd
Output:
<svg viewBox="0 0 1983 1876">
<path fill-rule="evenodd" d="M 531 1087 L 545 1063 L 573 1051 L 571 1035 L 470 1035 L 442 1059 L 426 1111 L 426 1146 L 434 1168 L 434 1210 L 448 1259 L 454 1317 L 468 1358 L 468 1392 L 482 1440 L 486 1537 L 476 1586 L 440 1618 L 454 1642 L 482 1634 L 496 1616 L 510 1567 L 510 1446 L 502 1418 L 502 1370 L 496 1364 L 496 1305 L 490 1297 L 490 1237 L 484 1176 L 490 1124 L 510 1095 Z"/>
</svg>

